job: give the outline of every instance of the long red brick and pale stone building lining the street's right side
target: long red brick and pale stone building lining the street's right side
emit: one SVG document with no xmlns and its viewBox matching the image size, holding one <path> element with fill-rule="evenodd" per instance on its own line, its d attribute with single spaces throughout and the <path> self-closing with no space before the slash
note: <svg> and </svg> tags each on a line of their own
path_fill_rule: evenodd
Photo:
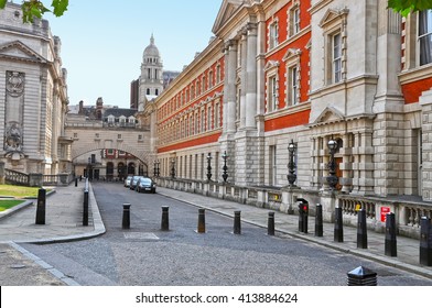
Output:
<svg viewBox="0 0 432 308">
<path fill-rule="evenodd" d="M 432 200 L 431 18 L 386 0 L 224 0 L 215 38 L 141 112 L 166 185 L 419 226 Z"/>
</svg>

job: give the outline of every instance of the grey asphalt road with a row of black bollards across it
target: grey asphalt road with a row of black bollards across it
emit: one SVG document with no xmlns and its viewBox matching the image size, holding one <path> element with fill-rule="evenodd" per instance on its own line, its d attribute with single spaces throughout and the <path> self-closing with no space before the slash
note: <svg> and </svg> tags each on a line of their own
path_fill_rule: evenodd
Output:
<svg viewBox="0 0 432 308">
<path fill-rule="evenodd" d="M 363 265 L 378 285 L 432 285 L 430 279 L 335 252 L 288 235 L 198 209 L 159 194 L 138 194 L 114 183 L 94 183 L 107 233 L 87 241 L 23 245 L 80 285 L 87 286 L 344 286 L 347 272 Z M 122 229 L 123 204 L 131 204 L 130 229 Z M 170 231 L 161 231 L 169 206 Z"/>
</svg>

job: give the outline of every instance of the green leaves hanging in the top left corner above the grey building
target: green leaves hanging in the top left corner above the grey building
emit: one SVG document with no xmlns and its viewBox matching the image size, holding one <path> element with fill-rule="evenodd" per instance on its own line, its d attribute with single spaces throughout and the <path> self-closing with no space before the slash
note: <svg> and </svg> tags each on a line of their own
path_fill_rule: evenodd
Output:
<svg viewBox="0 0 432 308">
<path fill-rule="evenodd" d="M 0 9 L 4 9 L 8 0 L 0 0 Z M 42 19 L 46 12 L 52 12 L 57 18 L 63 15 L 67 10 L 69 0 L 53 0 L 51 3 L 52 10 L 46 8 L 40 0 L 23 0 L 22 1 L 22 21 L 24 23 L 33 22 L 34 18 Z"/>
</svg>

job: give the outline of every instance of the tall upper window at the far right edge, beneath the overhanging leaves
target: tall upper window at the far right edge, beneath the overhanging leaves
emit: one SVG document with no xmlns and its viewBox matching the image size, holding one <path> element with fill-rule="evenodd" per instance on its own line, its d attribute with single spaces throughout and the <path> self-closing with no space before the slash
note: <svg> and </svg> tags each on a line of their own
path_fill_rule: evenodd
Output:
<svg viewBox="0 0 432 308">
<path fill-rule="evenodd" d="M 419 12 L 420 65 L 432 63 L 432 10 Z"/>
</svg>

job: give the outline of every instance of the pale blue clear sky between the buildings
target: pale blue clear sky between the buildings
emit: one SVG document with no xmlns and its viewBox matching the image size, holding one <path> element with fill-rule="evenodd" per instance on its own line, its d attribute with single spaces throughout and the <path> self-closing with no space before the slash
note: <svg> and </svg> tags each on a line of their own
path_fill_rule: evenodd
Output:
<svg viewBox="0 0 432 308">
<path fill-rule="evenodd" d="M 51 32 L 62 41 L 69 106 L 80 100 L 94 106 L 101 97 L 104 105 L 129 108 L 130 82 L 141 74 L 151 35 L 164 70 L 181 72 L 208 45 L 222 2 L 69 0 L 63 16 L 45 14 Z"/>
</svg>

